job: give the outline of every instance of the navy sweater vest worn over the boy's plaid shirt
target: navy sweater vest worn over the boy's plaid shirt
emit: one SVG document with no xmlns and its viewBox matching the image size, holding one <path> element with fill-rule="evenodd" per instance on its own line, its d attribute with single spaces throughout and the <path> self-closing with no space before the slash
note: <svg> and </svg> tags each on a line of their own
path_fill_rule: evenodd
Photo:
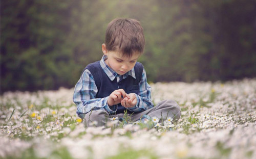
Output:
<svg viewBox="0 0 256 159">
<path fill-rule="evenodd" d="M 117 89 L 123 89 L 127 94 L 139 93 L 139 82 L 141 81 L 143 72 L 143 65 L 139 62 L 136 62 L 134 66 L 136 79 L 129 75 L 118 83 L 116 78 L 113 81 L 110 80 L 108 75 L 106 75 L 106 73 L 101 68 L 100 61 L 91 63 L 84 69 L 89 69 L 89 71 L 93 75 L 95 84 L 98 89 L 96 98 L 107 97 Z M 117 109 L 115 114 L 124 113 L 124 111 L 126 110 L 124 107 L 122 107 L 121 103 L 117 105 L 117 108 L 116 105 L 113 105 L 111 109 L 113 111 Z M 129 110 L 127 110 L 127 112 L 131 113 Z"/>
</svg>

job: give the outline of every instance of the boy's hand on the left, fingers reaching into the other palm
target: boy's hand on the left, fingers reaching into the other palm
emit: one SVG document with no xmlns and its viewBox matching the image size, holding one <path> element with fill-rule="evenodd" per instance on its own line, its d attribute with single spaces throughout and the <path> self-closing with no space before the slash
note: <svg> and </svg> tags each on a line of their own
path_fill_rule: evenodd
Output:
<svg viewBox="0 0 256 159">
<path fill-rule="evenodd" d="M 130 95 L 125 93 L 123 89 L 115 90 L 109 96 L 108 105 L 113 106 L 119 104 L 124 98 L 130 99 Z"/>
</svg>

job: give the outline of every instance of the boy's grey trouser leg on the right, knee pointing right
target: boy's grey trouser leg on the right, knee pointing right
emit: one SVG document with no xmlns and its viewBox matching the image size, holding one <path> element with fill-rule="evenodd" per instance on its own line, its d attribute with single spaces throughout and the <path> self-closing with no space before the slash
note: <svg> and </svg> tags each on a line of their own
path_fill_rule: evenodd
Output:
<svg viewBox="0 0 256 159">
<path fill-rule="evenodd" d="M 137 121 L 139 120 L 143 115 L 147 115 L 152 117 L 157 117 L 160 119 L 159 122 L 161 122 L 161 119 L 165 120 L 168 117 L 172 117 L 173 119 L 179 119 L 181 115 L 181 109 L 178 103 L 174 100 L 163 100 L 160 101 L 155 107 L 146 110 L 141 113 L 133 114 L 132 120 Z"/>
</svg>

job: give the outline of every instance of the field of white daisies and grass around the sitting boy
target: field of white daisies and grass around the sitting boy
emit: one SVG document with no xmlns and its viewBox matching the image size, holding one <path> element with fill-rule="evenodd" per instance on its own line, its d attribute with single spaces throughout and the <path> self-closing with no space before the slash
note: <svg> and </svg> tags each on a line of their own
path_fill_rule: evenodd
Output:
<svg viewBox="0 0 256 159">
<path fill-rule="evenodd" d="M 73 89 L 0 96 L 0 158 L 256 158 L 256 79 L 156 83 L 152 99 L 174 99 L 178 121 L 84 127 Z M 129 117 L 127 117 L 129 118 Z"/>
</svg>

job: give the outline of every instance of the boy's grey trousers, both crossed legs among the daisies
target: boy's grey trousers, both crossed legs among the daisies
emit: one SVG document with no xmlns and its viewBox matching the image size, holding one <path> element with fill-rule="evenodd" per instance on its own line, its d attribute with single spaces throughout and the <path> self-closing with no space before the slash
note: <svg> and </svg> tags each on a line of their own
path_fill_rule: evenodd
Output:
<svg viewBox="0 0 256 159">
<path fill-rule="evenodd" d="M 172 117 L 174 120 L 179 119 L 181 115 L 181 109 L 178 103 L 174 100 L 163 100 L 160 101 L 155 107 L 148 109 L 146 111 L 140 113 L 130 114 L 130 118 L 133 122 L 140 120 L 143 115 L 147 115 L 149 117 L 157 117 L 159 122 L 161 120 L 165 120 L 168 117 Z M 87 126 L 90 125 L 91 122 L 97 121 L 97 126 L 105 125 L 106 122 L 111 121 L 111 118 L 118 117 L 122 118 L 124 114 L 116 114 L 116 115 L 109 115 L 108 112 L 102 110 L 92 111 L 86 114 L 84 117 L 85 124 Z"/>
</svg>

